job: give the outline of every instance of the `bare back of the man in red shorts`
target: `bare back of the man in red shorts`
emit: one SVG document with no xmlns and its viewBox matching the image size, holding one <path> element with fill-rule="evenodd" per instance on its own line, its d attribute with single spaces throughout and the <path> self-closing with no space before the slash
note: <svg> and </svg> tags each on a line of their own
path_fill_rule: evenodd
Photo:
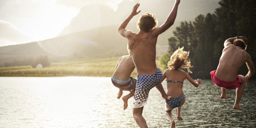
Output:
<svg viewBox="0 0 256 128">
<path fill-rule="evenodd" d="M 228 44 L 223 49 L 216 77 L 226 82 L 236 80 L 238 71 L 248 59 L 248 53 L 239 46 Z"/>
</svg>

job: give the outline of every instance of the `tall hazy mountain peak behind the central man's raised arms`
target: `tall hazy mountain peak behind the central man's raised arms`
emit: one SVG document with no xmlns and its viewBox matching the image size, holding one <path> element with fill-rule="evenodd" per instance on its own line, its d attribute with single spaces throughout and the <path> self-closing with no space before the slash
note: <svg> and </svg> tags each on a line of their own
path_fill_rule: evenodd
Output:
<svg viewBox="0 0 256 128">
<path fill-rule="evenodd" d="M 181 0 L 176 21 L 193 20 L 199 14 L 214 13 L 219 7 L 219 0 Z M 169 15 L 174 0 L 124 0 L 118 5 L 117 11 L 113 11 L 106 5 L 90 4 L 83 7 L 78 15 L 73 18 L 58 35 L 66 35 L 74 32 L 85 31 L 100 26 L 120 24 L 131 12 L 135 3 L 139 2 L 141 12 L 130 23 L 136 23 L 139 16 L 149 12 L 156 14 L 159 23 L 163 23 Z M 161 25 L 161 24 L 159 24 Z"/>
</svg>

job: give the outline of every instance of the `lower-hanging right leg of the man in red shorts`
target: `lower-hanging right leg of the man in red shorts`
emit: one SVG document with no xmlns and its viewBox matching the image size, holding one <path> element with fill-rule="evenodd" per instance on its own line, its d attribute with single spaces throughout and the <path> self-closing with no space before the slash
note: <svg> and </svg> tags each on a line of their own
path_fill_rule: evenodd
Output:
<svg viewBox="0 0 256 128">
<path fill-rule="evenodd" d="M 243 91 L 245 89 L 245 77 L 243 75 L 240 75 L 240 76 L 243 78 L 243 82 L 241 83 L 241 85 L 238 88 L 236 88 L 236 101 L 233 106 L 233 109 L 237 109 L 239 111 L 242 110 L 242 108 L 239 106 L 239 103 L 242 98 Z"/>
</svg>

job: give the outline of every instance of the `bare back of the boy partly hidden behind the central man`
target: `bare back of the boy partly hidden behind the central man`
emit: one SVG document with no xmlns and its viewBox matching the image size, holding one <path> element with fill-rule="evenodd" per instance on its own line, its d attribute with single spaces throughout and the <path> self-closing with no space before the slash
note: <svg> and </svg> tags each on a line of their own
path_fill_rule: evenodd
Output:
<svg viewBox="0 0 256 128">
<path fill-rule="evenodd" d="M 135 65 L 132 61 L 132 56 L 124 55 L 118 60 L 113 77 L 117 79 L 129 79 L 134 69 Z"/>
</svg>

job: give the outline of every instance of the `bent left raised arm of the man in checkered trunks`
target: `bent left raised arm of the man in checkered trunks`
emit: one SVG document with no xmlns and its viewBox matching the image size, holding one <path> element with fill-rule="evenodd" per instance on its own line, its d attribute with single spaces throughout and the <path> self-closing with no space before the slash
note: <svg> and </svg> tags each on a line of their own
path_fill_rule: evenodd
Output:
<svg viewBox="0 0 256 128">
<path fill-rule="evenodd" d="M 120 24 L 119 28 L 117 29 L 118 33 L 123 36 L 124 38 L 127 38 L 131 31 L 127 31 L 125 28 L 127 24 L 130 22 L 130 20 L 137 14 L 139 14 L 141 11 L 137 11 L 140 4 L 135 4 L 135 6 L 132 9 L 132 13 Z"/>
</svg>

